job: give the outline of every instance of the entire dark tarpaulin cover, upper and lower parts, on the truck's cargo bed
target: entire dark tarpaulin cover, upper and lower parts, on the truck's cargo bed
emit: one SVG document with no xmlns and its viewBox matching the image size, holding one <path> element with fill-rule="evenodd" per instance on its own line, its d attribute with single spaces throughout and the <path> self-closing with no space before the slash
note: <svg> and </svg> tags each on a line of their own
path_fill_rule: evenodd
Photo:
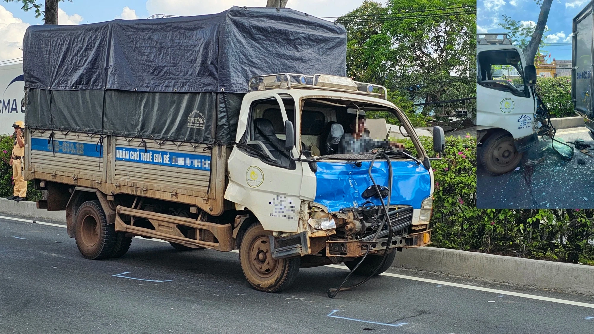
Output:
<svg viewBox="0 0 594 334">
<path fill-rule="evenodd" d="M 254 75 L 346 75 L 346 32 L 289 8 L 30 26 L 30 128 L 229 144 Z"/>
</svg>

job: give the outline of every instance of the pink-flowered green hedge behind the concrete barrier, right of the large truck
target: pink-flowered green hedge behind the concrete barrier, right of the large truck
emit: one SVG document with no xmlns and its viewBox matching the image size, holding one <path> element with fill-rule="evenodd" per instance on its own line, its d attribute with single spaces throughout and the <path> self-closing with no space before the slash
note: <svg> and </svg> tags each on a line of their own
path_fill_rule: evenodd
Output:
<svg viewBox="0 0 594 334">
<path fill-rule="evenodd" d="M 442 156 L 431 161 L 432 246 L 594 265 L 594 210 L 477 209 L 476 139 L 450 136 Z"/>
</svg>

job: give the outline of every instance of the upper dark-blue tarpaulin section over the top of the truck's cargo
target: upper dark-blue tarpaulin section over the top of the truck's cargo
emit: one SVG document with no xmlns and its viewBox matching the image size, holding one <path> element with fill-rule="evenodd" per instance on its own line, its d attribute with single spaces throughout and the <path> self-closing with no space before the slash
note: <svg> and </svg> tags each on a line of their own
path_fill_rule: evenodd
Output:
<svg viewBox="0 0 594 334">
<path fill-rule="evenodd" d="M 30 26 L 26 87 L 247 93 L 254 75 L 346 75 L 346 33 L 289 8 Z"/>
</svg>

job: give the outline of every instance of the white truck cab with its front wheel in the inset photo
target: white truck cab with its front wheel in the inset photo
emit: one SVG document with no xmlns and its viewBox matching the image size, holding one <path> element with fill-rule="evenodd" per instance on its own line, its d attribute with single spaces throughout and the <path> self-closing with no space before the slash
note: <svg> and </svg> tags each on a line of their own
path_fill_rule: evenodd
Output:
<svg viewBox="0 0 594 334">
<path fill-rule="evenodd" d="M 544 125 L 533 90 L 536 69 L 525 65 L 522 50 L 507 34 L 478 34 L 477 43 L 478 157 L 488 173 L 500 175 L 516 168 Z M 504 73 L 516 77 L 514 82 L 503 79 Z"/>
</svg>

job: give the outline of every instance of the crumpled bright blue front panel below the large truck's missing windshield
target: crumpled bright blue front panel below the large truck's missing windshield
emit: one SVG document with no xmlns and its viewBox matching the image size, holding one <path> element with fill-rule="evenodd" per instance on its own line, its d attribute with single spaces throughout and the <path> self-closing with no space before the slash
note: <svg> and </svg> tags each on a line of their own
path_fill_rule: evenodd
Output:
<svg viewBox="0 0 594 334">
<path fill-rule="evenodd" d="M 355 208 L 366 201 L 381 205 L 373 196 L 364 199 L 361 194 L 372 186 L 368 170 L 371 161 L 362 161 L 357 167 L 354 161 L 318 162 L 317 190 L 314 202 L 326 206 L 329 212 L 343 208 Z M 392 161 L 393 181 L 391 205 L 411 205 L 421 208 L 421 202 L 431 195 L 431 175 L 422 164 L 414 161 Z M 378 186 L 388 186 L 387 161 L 375 161 L 371 174 Z M 387 198 L 384 199 L 387 201 Z"/>
</svg>

